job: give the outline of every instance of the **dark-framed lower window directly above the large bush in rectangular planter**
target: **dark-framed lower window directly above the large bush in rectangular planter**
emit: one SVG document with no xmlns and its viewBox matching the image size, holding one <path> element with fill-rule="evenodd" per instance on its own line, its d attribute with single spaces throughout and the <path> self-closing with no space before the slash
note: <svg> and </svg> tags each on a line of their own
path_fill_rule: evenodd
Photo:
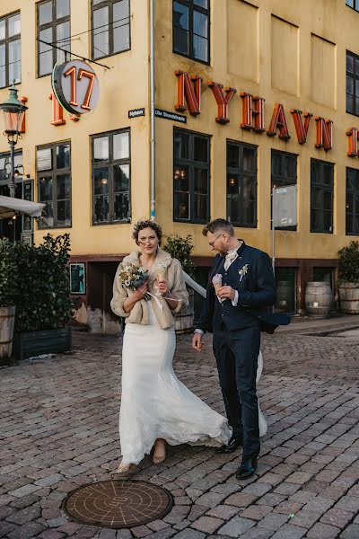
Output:
<svg viewBox="0 0 359 539">
<path fill-rule="evenodd" d="M 39 228 L 71 226 L 71 146 L 69 142 L 37 150 L 39 202 L 45 203 Z"/>
</svg>

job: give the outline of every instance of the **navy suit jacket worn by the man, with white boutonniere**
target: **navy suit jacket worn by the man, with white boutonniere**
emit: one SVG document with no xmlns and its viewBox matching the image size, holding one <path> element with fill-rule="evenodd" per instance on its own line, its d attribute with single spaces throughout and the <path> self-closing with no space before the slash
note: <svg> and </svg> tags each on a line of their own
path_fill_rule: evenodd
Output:
<svg viewBox="0 0 359 539">
<path fill-rule="evenodd" d="M 238 291 L 238 305 L 230 299 L 222 303 L 215 296 L 212 278 L 215 273 L 223 276 L 222 283 Z M 272 314 L 267 308 L 276 303 L 276 281 L 271 261 L 266 252 L 241 243 L 238 257 L 227 271 L 224 257 L 215 256 L 215 263 L 209 273 L 206 302 L 197 328 L 215 331 L 224 324 L 229 331 L 241 330 L 258 325 L 261 331 L 273 333 L 278 325 L 290 322 L 287 314 Z"/>
</svg>

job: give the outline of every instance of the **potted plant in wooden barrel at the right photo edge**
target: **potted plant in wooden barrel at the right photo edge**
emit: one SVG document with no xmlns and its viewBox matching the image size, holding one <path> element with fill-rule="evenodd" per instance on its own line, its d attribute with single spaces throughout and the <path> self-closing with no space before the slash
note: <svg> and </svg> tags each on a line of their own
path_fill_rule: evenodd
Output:
<svg viewBox="0 0 359 539">
<path fill-rule="evenodd" d="M 343 313 L 359 314 L 359 242 L 354 240 L 338 252 L 338 296 Z"/>
</svg>

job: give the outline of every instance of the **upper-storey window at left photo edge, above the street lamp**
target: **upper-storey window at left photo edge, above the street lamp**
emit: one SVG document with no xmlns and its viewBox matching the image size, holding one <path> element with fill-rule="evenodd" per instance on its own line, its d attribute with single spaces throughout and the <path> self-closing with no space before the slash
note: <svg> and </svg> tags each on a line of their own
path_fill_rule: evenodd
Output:
<svg viewBox="0 0 359 539">
<path fill-rule="evenodd" d="M 22 80 L 20 13 L 0 19 L 0 88 Z"/>
</svg>

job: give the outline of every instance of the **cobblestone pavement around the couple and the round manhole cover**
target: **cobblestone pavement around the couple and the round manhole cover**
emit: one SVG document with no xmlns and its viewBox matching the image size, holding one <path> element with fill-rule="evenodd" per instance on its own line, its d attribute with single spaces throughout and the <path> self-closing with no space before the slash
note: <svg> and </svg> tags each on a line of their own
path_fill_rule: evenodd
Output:
<svg viewBox="0 0 359 539">
<path fill-rule="evenodd" d="M 262 341 L 268 433 L 257 475 L 235 479 L 240 451 L 171 448 L 164 464 L 146 459 L 133 477 L 171 490 L 175 505 L 131 530 L 81 526 L 60 507 L 117 467 L 119 340 L 76 331 L 74 354 L 0 370 L 0 537 L 358 539 L 359 338 L 293 330 Z M 201 354 L 189 339 L 179 338 L 175 370 L 223 412 L 210 338 Z"/>
</svg>

